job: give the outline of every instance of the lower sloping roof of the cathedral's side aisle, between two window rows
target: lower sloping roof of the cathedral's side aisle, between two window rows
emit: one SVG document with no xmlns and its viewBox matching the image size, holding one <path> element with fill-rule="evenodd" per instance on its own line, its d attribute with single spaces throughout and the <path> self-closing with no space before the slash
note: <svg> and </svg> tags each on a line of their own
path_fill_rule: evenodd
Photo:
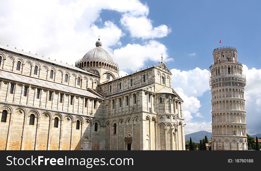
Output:
<svg viewBox="0 0 261 171">
<path fill-rule="evenodd" d="M 102 99 L 99 96 L 94 95 L 93 93 L 91 93 L 87 90 L 82 90 L 82 89 L 79 89 L 76 87 L 71 87 L 68 85 L 63 85 L 63 84 L 58 84 L 58 83 L 54 83 L 54 82 L 50 82 L 50 81 L 36 79 L 36 78 L 28 77 L 28 76 L 23 76 L 23 75 L 19 75 L 19 74 L 7 72 L 7 71 L 0 70 L 0 78 L 4 78 L 4 79 L 11 80 L 14 82 L 32 84 L 34 86 L 44 87 L 44 88 L 57 90 L 57 91 L 61 91 L 61 92 L 77 94 L 79 96 L 87 96 L 87 97 L 91 97 L 91 98 Z"/>
</svg>

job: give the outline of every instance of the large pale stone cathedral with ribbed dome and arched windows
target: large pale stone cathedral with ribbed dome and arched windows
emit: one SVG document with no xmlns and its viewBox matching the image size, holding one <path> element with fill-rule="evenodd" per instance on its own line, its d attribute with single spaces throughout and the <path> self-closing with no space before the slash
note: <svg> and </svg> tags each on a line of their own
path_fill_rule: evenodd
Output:
<svg viewBox="0 0 261 171">
<path fill-rule="evenodd" d="M 73 66 L 0 44 L 0 150 L 185 150 L 163 60 L 120 77 L 101 46 Z"/>
</svg>

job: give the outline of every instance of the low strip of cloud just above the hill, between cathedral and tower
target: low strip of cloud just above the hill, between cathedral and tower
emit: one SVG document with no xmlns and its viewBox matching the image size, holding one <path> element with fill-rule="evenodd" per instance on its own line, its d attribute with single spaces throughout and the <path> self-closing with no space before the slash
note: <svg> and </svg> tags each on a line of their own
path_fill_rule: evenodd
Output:
<svg viewBox="0 0 261 171">
<path fill-rule="evenodd" d="M 212 132 L 211 122 L 189 122 L 184 128 L 185 135 L 202 130 Z M 209 139 L 211 138 L 209 137 Z"/>
</svg>

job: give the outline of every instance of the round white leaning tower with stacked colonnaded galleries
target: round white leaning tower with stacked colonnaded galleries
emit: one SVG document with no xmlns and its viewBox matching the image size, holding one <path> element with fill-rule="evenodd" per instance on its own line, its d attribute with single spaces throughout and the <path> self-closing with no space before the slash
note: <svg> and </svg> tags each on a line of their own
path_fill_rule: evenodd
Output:
<svg viewBox="0 0 261 171">
<path fill-rule="evenodd" d="M 211 76 L 212 150 L 247 150 L 246 77 L 234 47 L 213 50 Z"/>
</svg>

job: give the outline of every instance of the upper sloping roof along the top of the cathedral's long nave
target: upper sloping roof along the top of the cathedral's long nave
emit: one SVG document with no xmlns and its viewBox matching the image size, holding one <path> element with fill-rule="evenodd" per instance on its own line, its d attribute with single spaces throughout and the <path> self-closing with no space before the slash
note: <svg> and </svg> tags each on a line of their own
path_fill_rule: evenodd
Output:
<svg viewBox="0 0 261 171">
<path fill-rule="evenodd" d="M 85 71 L 81 68 L 77 68 L 76 66 L 69 65 L 69 64 L 66 64 L 66 63 L 62 63 L 62 62 L 58 62 L 56 60 L 51 60 L 51 59 L 48 59 L 46 57 L 42 57 L 42 56 L 39 56 L 39 55 L 36 55 L 36 54 L 28 53 L 28 52 L 25 52 L 23 50 L 19 50 L 19 49 L 12 48 L 12 47 L 9 47 L 9 46 L 5 46 L 5 45 L 2 45 L 2 44 L 0 44 L 0 48 L 5 49 L 7 51 L 15 52 L 17 54 L 22 54 L 22 55 L 26 55 L 28 57 L 32 57 L 32 58 L 35 58 L 35 59 L 43 60 L 45 62 L 54 63 L 54 64 L 59 65 L 59 66 L 64 67 L 64 68 L 70 68 L 70 69 L 73 69 L 73 70 L 76 70 L 76 71 L 79 71 L 79 72 L 82 72 L 82 73 L 87 73 L 89 75 L 90 74 L 95 75 L 94 73 L 90 73 L 90 72 Z M 97 76 L 97 75 L 95 75 L 95 76 Z"/>
</svg>

